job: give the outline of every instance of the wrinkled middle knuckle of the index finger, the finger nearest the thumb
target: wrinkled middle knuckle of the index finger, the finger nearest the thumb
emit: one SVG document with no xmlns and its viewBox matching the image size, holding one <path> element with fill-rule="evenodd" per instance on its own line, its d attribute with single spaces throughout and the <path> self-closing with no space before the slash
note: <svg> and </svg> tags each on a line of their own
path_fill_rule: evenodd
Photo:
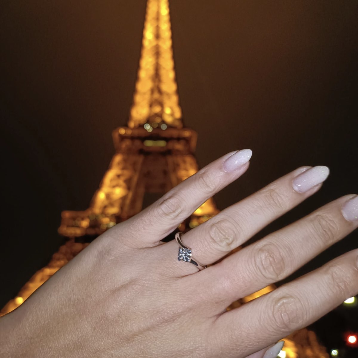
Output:
<svg viewBox="0 0 358 358">
<path fill-rule="evenodd" d="M 269 320 L 276 332 L 290 333 L 300 328 L 307 320 L 306 308 L 299 298 L 285 294 L 271 302 Z"/>
</svg>

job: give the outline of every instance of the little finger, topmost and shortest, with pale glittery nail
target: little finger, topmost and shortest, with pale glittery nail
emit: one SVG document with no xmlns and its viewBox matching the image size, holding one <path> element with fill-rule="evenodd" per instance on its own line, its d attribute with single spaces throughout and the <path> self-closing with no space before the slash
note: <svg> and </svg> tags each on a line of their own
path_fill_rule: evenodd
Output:
<svg viewBox="0 0 358 358">
<path fill-rule="evenodd" d="M 158 245 L 160 240 L 207 199 L 245 173 L 251 154 L 250 149 L 243 149 L 213 161 L 139 214 L 123 222 L 121 233 L 127 231 L 128 240 L 135 246 Z M 133 235 L 134 227 L 136 230 Z"/>
</svg>

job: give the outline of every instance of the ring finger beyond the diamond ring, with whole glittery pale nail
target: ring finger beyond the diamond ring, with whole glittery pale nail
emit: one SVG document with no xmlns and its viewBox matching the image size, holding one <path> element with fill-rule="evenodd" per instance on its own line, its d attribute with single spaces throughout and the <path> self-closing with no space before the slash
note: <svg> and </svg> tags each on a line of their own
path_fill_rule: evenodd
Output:
<svg viewBox="0 0 358 358">
<path fill-rule="evenodd" d="M 315 193 L 328 174 L 326 166 L 298 168 L 185 233 L 182 241 L 198 262 L 216 262 Z"/>
</svg>

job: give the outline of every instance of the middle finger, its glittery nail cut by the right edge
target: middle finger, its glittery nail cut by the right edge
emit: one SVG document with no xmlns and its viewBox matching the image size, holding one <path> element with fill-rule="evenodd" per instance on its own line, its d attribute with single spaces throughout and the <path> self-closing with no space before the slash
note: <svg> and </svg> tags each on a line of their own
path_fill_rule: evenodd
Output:
<svg viewBox="0 0 358 358">
<path fill-rule="evenodd" d="M 358 212 L 358 196 L 345 195 L 203 271 L 203 285 L 211 288 L 217 302 L 222 300 L 216 313 L 284 279 L 347 236 L 358 227 L 358 221 L 346 219 L 354 207 Z"/>
</svg>

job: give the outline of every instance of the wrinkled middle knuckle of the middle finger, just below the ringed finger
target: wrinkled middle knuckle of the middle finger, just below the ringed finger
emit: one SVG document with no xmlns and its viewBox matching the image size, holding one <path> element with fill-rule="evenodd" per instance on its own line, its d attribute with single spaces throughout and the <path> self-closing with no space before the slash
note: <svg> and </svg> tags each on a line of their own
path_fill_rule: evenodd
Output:
<svg viewBox="0 0 358 358">
<path fill-rule="evenodd" d="M 286 273 L 286 256 L 275 243 L 265 243 L 255 251 L 254 263 L 267 282 L 277 282 Z"/>
</svg>

